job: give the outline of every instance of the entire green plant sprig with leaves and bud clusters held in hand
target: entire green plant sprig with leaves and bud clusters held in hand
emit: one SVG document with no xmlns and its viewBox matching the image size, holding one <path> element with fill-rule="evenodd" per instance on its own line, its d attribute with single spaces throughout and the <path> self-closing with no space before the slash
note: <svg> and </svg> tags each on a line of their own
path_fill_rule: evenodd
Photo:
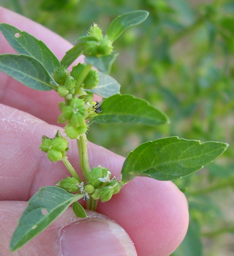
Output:
<svg viewBox="0 0 234 256">
<path fill-rule="evenodd" d="M 40 40 L 11 25 L 0 24 L 1 32 L 19 53 L 0 55 L 0 70 L 30 88 L 53 89 L 64 98 L 64 102 L 59 102 L 58 123 L 65 124 L 66 136 L 59 131 L 54 138 L 44 135 L 40 149 L 52 162 L 62 161 L 71 173 L 71 177 L 56 182 L 56 186 L 42 187 L 32 196 L 12 236 L 11 251 L 42 232 L 71 204 L 75 215 L 85 218 L 85 210 L 78 203 L 81 198 L 86 201 L 86 209 L 96 210 L 98 200 L 110 200 L 137 176 L 177 179 L 201 169 L 227 149 L 228 145 L 222 142 L 168 137 L 148 141 L 130 152 L 123 163 L 121 180 L 111 177 L 111 170 L 105 167 L 89 165 L 86 133 L 93 122 L 150 126 L 169 123 L 168 117 L 149 102 L 121 95 L 119 83 L 108 75 L 118 55 L 113 51 L 113 42 L 125 29 L 143 22 L 148 15 L 143 10 L 120 15 L 110 23 L 106 35 L 94 23 L 60 62 Z M 68 67 L 81 54 L 85 55 L 86 64 L 78 63 L 69 72 Z M 94 102 L 93 94 L 106 99 L 102 104 Z M 68 160 L 67 137 L 77 141 L 84 181 Z"/>
</svg>

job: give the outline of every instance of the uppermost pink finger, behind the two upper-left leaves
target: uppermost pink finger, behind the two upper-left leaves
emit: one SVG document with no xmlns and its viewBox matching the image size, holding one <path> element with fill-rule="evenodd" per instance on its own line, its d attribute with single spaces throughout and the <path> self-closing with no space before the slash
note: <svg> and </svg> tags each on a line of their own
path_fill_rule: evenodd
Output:
<svg viewBox="0 0 234 256">
<path fill-rule="evenodd" d="M 19 30 L 27 31 L 42 40 L 55 53 L 59 60 L 61 60 L 65 52 L 72 47 L 69 42 L 59 35 L 3 7 L 0 7 L 0 23 L 8 23 L 16 26 Z M 1 32 L 0 45 L 0 53 L 15 53 Z M 79 61 L 84 62 L 84 58 L 81 56 L 76 63 Z M 0 103 L 28 112 L 45 120 L 47 123 L 57 124 L 57 119 L 60 114 L 58 102 L 63 101 L 63 98 L 59 97 L 57 92 L 53 90 L 33 90 L 2 72 L 0 72 L 0 79 Z"/>
</svg>

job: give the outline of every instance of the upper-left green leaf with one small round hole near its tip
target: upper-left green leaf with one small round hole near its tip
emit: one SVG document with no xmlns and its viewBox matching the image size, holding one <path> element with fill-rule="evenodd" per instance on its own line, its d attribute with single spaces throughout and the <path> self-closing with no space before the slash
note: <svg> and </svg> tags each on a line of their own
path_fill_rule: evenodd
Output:
<svg viewBox="0 0 234 256">
<path fill-rule="evenodd" d="M 57 85 L 52 77 L 52 74 L 55 69 L 59 67 L 59 60 L 42 41 L 38 40 L 25 31 L 20 31 L 19 29 L 9 24 L 1 23 L 0 30 L 8 43 L 19 54 L 25 54 L 40 61 L 50 74 L 51 82 Z"/>
</svg>

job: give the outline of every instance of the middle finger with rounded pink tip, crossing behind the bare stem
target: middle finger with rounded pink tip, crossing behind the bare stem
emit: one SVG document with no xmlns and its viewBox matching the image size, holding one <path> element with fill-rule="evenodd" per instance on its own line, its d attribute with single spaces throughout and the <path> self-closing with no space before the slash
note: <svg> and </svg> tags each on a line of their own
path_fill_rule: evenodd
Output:
<svg viewBox="0 0 234 256">
<path fill-rule="evenodd" d="M 4 105 L 1 109 L 4 123 L 0 127 L 0 196 L 2 200 L 28 200 L 39 187 L 54 185 L 69 175 L 61 162 L 51 163 L 38 149 L 41 136 L 54 137 L 58 127 Z M 116 177 L 120 176 L 123 157 L 92 143 L 88 144 L 88 153 L 91 167 L 102 165 Z M 71 144 L 68 157 L 80 173 L 77 155 L 76 145 Z M 123 226 L 138 255 L 169 255 L 188 227 L 186 198 L 172 182 L 137 178 L 109 202 L 100 203 L 98 211 Z"/>
</svg>

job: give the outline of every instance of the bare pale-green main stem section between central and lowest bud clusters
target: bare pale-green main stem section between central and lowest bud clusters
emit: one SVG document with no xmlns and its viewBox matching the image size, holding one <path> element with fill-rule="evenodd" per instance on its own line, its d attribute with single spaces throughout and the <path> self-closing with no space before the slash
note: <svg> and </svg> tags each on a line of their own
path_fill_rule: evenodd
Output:
<svg viewBox="0 0 234 256">
<path fill-rule="evenodd" d="M 85 133 L 82 134 L 79 139 L 77 139 L 77 146 L 79 150 L 81 170 L 84 175 L 85 181 L 87 181 L 90 172 L 90 166 L 88 162 L 87 137 Z"/>
</svg>

